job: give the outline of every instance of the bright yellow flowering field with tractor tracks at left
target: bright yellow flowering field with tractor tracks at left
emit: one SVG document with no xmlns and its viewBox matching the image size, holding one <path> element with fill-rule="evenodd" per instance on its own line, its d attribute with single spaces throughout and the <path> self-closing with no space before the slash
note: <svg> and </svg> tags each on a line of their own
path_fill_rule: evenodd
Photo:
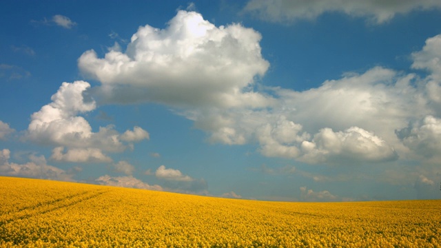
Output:
<svg viewBox="0 0 441 248">
<path fill-rule="evenodd" d="M 441 200 L 276 203 L 0 177 L 0 247 L 441 247 Z"/>
</svg>

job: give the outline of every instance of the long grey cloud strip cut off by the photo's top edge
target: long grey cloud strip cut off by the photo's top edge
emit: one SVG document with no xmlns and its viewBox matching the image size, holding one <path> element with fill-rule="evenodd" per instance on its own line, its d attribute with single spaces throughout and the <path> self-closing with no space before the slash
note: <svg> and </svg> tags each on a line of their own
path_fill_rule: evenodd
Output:
<svg viewBox="0 0 441 248">
<path fill-rule="evenodd" d="M 380 24 L 389 21 L 396 14 L 429 8 L 441 8 L 441 3 L 433 0 L 251 0 L 245 6 L 245 11 L 274 22 L 316 19 L 325 12 L 343 12 L 352 17 L 365 17 L 372 23 Z"/>
</svg>

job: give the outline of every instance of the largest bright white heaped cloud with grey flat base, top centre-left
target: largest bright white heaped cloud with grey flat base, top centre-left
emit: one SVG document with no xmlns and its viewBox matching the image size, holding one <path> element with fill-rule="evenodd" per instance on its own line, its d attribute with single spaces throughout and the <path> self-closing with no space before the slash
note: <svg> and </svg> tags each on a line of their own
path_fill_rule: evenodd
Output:
<svg viewBox="0 0 441 248">
<path fill-rule="evenodd" d="M 269 66 L 260 39 L 240 24 L 216 27 L 180 10 L 165 29 L 140 27 L 125 52 L 111 50 L 103 59 L 83 53 L 79 68 L 101 81 L 103 101 L 261 106 L 270 100 L 247 89 Z"/>
</svg>

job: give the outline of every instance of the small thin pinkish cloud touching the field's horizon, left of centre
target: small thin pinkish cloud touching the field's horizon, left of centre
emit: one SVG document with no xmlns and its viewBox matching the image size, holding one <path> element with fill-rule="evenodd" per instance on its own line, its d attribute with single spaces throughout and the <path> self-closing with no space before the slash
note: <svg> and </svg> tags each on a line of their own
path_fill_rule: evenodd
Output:
<svg viewBox="0 0 441 248">
<path fill-rule="evenodd" d="M 133 176 L 100 176 L 96 178 L 96 182 L 101 185 L 116 186 L 116 187 L 131 187 L 136 189 L 150 189 L 156 191 L 163 191 L 163 187 L 159 185 L 149 185 L 142 180 L 134 178 Z"/>
</svg>

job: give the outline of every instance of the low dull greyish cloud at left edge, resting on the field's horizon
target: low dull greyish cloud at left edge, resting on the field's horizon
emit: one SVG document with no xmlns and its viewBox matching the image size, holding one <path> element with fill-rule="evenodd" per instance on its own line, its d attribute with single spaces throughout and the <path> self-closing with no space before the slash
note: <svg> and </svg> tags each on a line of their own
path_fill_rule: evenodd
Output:
<svg viewBox="0 0 441 248">
<path fill-rule="evenodd" d="M 25 164 L 10 163 L 10 150 L 0 150 L 0 174 L 52 180 L 72 181 L 72 174 L 63 169 L 48 165 L 44 156 L 30 155 L 30 162 Z"/>
</svg>

